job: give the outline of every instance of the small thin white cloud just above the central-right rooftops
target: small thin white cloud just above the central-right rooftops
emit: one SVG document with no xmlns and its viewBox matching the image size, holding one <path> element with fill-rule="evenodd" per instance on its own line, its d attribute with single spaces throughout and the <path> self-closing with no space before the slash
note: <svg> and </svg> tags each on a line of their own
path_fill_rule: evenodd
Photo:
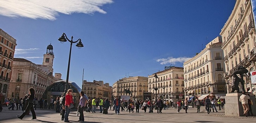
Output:
<svg viewBox="0 0 256 123">
<path fill-rule="evenodd" d="M 191 59 L 191 58 L 187 58 L 187 57 L 179 57 L 179 58 L 168 57 L 168 58 L 157 59 L 156 62 L 160 62 L 161 65 L 165 65 L 165 64 L 168 64 L 168 63 L 174 63 L 175 64 L 177 62 L 184 63 L 189 59 Z"/>
</svg>

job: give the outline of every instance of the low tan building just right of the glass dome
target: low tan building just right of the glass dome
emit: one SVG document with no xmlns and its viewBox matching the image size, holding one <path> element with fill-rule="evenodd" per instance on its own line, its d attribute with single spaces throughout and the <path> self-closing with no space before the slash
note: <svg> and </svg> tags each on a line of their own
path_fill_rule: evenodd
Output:
<svg viewBox="0 0 256 123">
<path fill-rule="evenodd" d="M 108 98 L 111 99 L 112 97 L 112 87 L 109 86 L 109 83 L 103 83 L 103 81 L 96 81 L 87 82 L 87 80 L 83 81 L 82 91 L 88 97 L 96 97 L 96 99 Z"/>
</svg>

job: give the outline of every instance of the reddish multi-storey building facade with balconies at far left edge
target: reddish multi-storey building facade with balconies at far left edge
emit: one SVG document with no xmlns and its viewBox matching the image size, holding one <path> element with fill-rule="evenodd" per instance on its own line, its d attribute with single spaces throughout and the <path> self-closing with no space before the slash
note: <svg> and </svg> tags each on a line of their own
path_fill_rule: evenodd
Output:
<svg viewBox="0 0 256 123">
<path fill-rule="evenodd" d="M 16 39 L 0 29 L 0 93 L 8 96 L 9 83 L 12 75 L 13 56 L 16 47 Z"/>
</svg>

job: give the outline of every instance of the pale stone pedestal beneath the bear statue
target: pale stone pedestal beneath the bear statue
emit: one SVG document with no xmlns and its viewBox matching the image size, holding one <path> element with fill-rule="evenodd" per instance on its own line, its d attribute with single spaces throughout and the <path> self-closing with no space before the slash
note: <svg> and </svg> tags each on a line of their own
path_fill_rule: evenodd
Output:
<svg viewBox="0 0 256 123">
<path fill-rule="evenodd" d="M 255 102 L 255 96 L 250 94 L 250 99 Z M 244 116 L 242 103 L 239 101 L 242 93 L 227 93 L 225 96 L 225 115 L 226 116 Z M 256 104 L 251 105 L 252 113 L 256 115 Z"/>
</svg>

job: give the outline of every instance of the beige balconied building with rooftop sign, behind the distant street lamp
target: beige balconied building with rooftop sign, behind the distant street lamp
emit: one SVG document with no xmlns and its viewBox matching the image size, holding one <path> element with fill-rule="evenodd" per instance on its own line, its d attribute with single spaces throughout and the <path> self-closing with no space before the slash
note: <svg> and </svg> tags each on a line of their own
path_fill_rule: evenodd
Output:
<svg viewBox="0 0 256 123">
<path fill-rule="evenodd" d="M 170 102 L 175 102 L 179 98 L 184 99 L 183 73 L 183 67 L 168 66 L 163 71 L 149 75 L 148 90 L 153 93 L 153 100 L 155 100 L 155 93 L 157 97 Z M 157 79 L 154 77 L 155 74 L 158 76 Z M 155 88 L 158 88 L 156 92 Z"/>
</svg>

